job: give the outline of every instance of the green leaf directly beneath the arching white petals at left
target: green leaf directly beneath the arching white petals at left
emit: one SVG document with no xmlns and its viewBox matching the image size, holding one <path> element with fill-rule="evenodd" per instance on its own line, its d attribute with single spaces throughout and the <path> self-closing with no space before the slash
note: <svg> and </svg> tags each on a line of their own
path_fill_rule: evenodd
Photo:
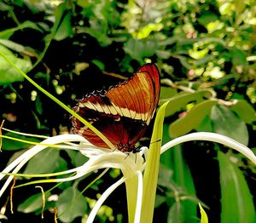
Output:
<svg viewBox="0 0 256 223">
<path fill-rule="evenodd" d="M 47 148 L 32 157 L 26 165 L 24 174 L 49 174 L 59 168 L 60 151 Z"/>
</svg>

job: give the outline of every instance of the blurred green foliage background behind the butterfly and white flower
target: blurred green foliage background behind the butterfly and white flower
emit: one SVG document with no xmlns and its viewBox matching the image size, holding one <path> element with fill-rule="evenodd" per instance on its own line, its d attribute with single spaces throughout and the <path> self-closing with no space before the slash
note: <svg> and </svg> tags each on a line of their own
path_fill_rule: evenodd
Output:
<svg viewBox="0 0 256 223">
<path fill-rule="evenodd" d="M 0 50 L 65 104 L 72 107 L 74 99 L 108 89 L 122 80 L 119 75 L 130 77 L 139 66 L 155 62 L 163 86 L 160 103 L 172 100 L 164 140 L 211 131 L 255 150 L 255 1 L 13 0 L 0 2 L 0 11 Z M 0 85 L 6 128 L 44 135 L 72 132 L 69 114 L 24 81 L 2 57 Z M 148 145 L 148 137 L 150 129 L 142 145 Z M 28 147 L 3 140 L 1 167 Z M 53 150 L 36 157 L 24 172 L 53 172 L 84 161 L 79 154 Z M 255 167 L 241 155 L 196 141 L 166 152 L 161 163 L 155 219 L 196 222 L 200 199 L 212 222 L 255 220 Z M 66 207 L 96 175 L 55 188 L 52 193 L 61 197 L 47 204 L 44 220 L 52 220 L 52 208 Z M 119 172 L 113 170 L 98 180 L 74 205 L 80 208 L 69 209 L 60 220 L 80 221 L 117 177 Z M 8 214 L 9 220 L 38 220 L 40 204 L 26 200 L 37 193 L 33 187 L 17 188 L 16 210 Z M 125 188 L 120 187 L 97 220 L 124 221 L 126 214 Z"/>
</svg>

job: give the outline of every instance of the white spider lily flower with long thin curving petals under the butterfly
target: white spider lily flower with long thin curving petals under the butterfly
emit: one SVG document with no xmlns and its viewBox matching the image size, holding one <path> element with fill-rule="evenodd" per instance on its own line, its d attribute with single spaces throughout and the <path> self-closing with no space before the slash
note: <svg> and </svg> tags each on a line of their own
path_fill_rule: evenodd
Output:
<svg viewBox="0 0 256 223">
<path fill-rule="evenodd" d="M 173 146 L 189 140 L 209 140 L 224 144 L 225 146 L 230 146 L 231 148 L 236 149 L 238 152 L 244 154 L 253 163 L 256 164 L 256 157 L 254 156 L 253 152 L 246 146 L 241 145 L 240 143 L 236 142 L 236 140 L 232 140 L 229 137 L 212 133 L 193 133 L 181 136 L 177 139 L 169 141 L 164 146 L 161 146 L 160 153 L 166 152 L 166 150 L 172 148 Z M 15 174 L 19 172 L 19 170 L 27 163 L 27 161 L 30 160 L 38 152 L 41 152 L 49 146 L 55 146 L 61 149 L 75 150 L 81 152 L 82 154 L 84 154 L 84 156 L 89 157 L 89 160 L 80 167 L 68 169 L 67 171 L 63 171 L 61 173 L 41 174 L 40 176 L 53 176 L 74 173 L 72 176 L 66 178 L 45 180 L 47 182 L 63 182 L 68 180 L 75 180 L 79 177 L 84 176 L 85 174 L 95 171 L 96 169 L 114 168 L 120 169 L 122 171 L 123 177 L 112 186 L 108 187 L 105 192 L 103 192 L 102 197 L 98 199 L 96 205 L 90 212 L 87 222 L 93 222 L 98 209 L 100 209 L 100 207 L 102 206 L 102 203 L 122 183 L 125 183 L 126 186 L 128 212 L 130 214 L 129 221 L 141 221 L 140 218 L 142 214 L 144 188 L 143 181 L 145 181 L 145 179 L 143 180 L 143 170 L 145 168 L 154 168 L 150 166 L 147 167 L 148 159 L 150 159 L 150 156 L 148 156 L 148 148 L 143 147 L 141 152 L 136 154 L 132 152 L 126 154 L 124 152 L 119 152 L 118 150 L 111 151 L 108 149 L 97 148 L 96 146 L 91 145 L 90 142 L 85 140 L 84 137 L 77 134 L 63 134 L 49 137 L 48 139 L 43 140 L 40 144 L 33 146 L 30 150 L 24 152 L 20 157 L 16 158 L 15 161 L 10 163 L 8 167 L 3 169 L 2 174 L 0 174 L 0 180 L 3 180 L 3 177 L 6 174 L 9 174 L 8 179 L 0 190 L 0 197 L 3 195 L 3 192 L 6 190 L 7 186 L 9 186 L 9 183 L 14 178 Z M 145 159 L 143 158 L 143 155 Z M 149 163 L 150 162 L 152 162 L 152 160 L 150 160 Z M 153 162 L 155 163 L 155 161 Z M 150 165 L 152 165 L 152 163 Z M 155 178 L 155 176 L 153 175 L 150 177 L 152 177 L 152 179 Z M 32 183 L 40 183 L 43 181 L 44 180 L 38 180 L 33 181 Z M 148 191 L 148 188 L 146 189 Z"/>
</svg>

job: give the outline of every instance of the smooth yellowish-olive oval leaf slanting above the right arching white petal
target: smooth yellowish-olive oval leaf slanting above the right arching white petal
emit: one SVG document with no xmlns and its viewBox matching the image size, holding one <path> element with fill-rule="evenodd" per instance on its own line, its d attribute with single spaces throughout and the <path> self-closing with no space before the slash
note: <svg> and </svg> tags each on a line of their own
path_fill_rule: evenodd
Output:
<svg viewBox="0 0 256 223">
<path fill-rule="evenodd" d="M 170 102 L 172 104 L 172 102 Z M 217 101 L 205 100 L 192 107 L 185 116 L 178 118 L 170 125 L 169 133 L 171 137 L 178 137 L 189 133 L 192 129 L 197 128 L 207 115 L 210 115 L 212 106 Z"/>
</svg>

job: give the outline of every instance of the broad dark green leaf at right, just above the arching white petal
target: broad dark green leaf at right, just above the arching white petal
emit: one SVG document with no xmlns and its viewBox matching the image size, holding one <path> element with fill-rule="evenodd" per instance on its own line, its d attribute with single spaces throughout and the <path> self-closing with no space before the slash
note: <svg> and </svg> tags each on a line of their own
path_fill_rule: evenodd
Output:
<svg viewBox="0 0 256 223">
<path fill-rule="evenodd" d="M 229 136 L 247 146 L 247 126 L 233 111 L 225 106 L 213 106 L 211 119 L 214 132 Z"/>
</svg>

